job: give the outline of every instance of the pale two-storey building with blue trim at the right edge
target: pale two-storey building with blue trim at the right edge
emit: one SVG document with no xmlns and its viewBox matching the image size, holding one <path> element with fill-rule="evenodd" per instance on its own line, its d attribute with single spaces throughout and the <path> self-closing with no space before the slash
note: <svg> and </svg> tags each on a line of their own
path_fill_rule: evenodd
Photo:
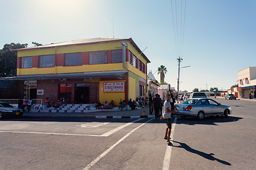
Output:
<svg viewBox="0 0 256 170">
<path fill-rule="evenodd" d="M 240 98 L 255 98 L 256 93 L 256 67 L 247 67 L 238 72 L 238 96 Z"/>
</svg>

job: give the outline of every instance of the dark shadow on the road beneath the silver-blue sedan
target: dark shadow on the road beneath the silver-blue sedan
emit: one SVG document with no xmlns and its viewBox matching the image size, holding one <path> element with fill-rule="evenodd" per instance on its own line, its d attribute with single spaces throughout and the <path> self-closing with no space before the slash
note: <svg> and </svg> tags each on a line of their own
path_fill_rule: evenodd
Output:
<svg viewBox="0 0 256 170">
<path fill-rule="evenodd" d="M 204 120 L 197 120 L 196 118 L 186 118 L 186 119 L 181 119 L 179 117 L 177 118 L 178 118 L 177 124 L 186 124 L 186 125 L 218 125 L 216 123 L 232 123 L 242 119 L 235 116 L 229 116 L 228 118 L 224 118 L 223 116 L 206 117 Z"/>
</svg>

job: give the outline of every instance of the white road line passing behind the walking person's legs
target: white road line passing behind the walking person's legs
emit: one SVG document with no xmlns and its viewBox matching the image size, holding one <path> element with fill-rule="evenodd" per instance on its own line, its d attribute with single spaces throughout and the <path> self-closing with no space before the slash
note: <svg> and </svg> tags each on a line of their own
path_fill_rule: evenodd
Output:
<svg viewBox="0 0 256 170">
<path fill-rule="evenodd" d="M 174 119 L 174 123 L 171 125 L 171 140 L 174 140 L 174 129 L 177 122 L 177 118 Z M 169 170 L 171 161 L 171 146 L 166 147 L 166 153 L 164 156 L 163 170 Z"/>
</svg>

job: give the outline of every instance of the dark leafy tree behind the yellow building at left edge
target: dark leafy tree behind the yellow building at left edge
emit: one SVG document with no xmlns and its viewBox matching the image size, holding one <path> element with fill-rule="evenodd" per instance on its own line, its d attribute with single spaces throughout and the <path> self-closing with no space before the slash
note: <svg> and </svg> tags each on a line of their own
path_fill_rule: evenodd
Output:
<svg viewBox="0 0 256 170">
<path fill-rule="evenodd" d="M 0 77 L 15 77 L 17 70 L 17 52 L 11 51 L 28 47 L 28 44 L 11 42 L 0 50 Z"/>
</svg>

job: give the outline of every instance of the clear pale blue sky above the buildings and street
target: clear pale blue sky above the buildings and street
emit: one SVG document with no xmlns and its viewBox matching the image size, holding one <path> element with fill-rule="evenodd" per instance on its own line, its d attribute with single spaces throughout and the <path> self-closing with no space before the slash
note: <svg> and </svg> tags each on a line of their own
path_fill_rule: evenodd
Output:
<svg viewBox="0 0 256 170">
<path fill-rule="evenodd" d="M 0 48 L 87 38 L 132 38 L 180 90 L 230 89 L 256 65 L 256 0 L 0 0 Z M 177 13 L 177 14 L 176 14 Z M 154 77 L 159 81 L 160 74 Z"/>
</svg>

